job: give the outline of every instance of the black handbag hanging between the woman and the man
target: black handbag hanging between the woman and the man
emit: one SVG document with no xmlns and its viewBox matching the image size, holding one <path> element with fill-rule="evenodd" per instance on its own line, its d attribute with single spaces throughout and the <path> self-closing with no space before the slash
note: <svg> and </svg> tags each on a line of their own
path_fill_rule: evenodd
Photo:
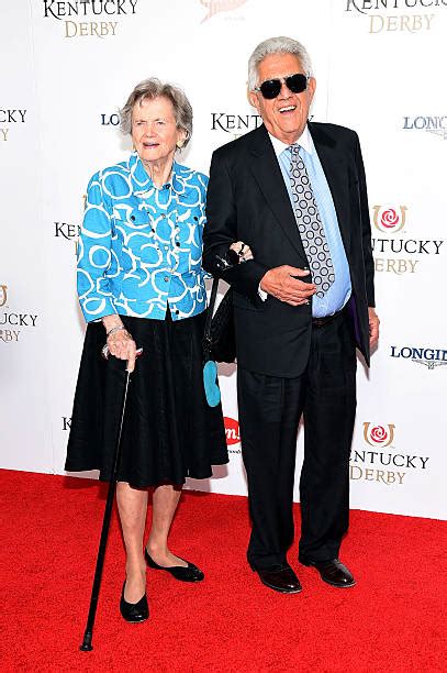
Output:
<svg viewBox="0 0 447 673">
<path fill-rule="evenodd" d="M 203 362 L 205 363 L 209 360 L 214 360 L 215 362 L 232 363 L 236 358 L 233 291 L 230 288 L 225 293 L 214 313 L 217 288 L 219 278 L 214 278 L 203 335 Z"/>
</svg>

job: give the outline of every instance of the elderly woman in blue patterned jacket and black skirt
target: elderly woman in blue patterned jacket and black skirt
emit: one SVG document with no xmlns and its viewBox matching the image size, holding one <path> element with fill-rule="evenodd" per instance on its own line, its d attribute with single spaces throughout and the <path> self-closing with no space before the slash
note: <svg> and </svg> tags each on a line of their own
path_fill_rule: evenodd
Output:
<svg viewBox="0 0 447 673">
<path fill-rule="evenodd" d="M 169 550 L 168 533 L 185 478 L 210 477 L 211 465 L 228 457 L 221 406 L 206 404 L 202 382 L 208 178 L 175 161 L 191 137 L 192 109 L 180 89 L 153 78 L 135 87 L 121 120 L 135 152 L 91 178 L 79 241 L 78 294 L 88 328 L 66 470 L 98 468 L 101 479 L 110 478 L 123 372 L 134 369 L 143 349 L 116 489 L 126 551 L 120 609 L 127 621 L 143 621 L 146 564 L 183 582 L 203 580 Z M 107 363 L 104 341 L 113 356 Z M 148 487 L 153 519 L 143 547 Z"/>
</svg>

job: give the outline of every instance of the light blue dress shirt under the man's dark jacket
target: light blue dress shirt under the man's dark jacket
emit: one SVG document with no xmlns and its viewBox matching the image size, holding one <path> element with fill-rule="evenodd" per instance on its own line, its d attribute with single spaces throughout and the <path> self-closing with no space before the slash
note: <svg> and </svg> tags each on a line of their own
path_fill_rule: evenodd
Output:
<svg viewBox="0 0 447 673">
<path fill-rule="evenodd" d="M 287 145 L 272 135 L 270 135 L 270 140 L 293 208 L 292 188 L 290 184 L 290 145 Z M 326 241 L 334 265 L 335 280 L 329 289 L 325 293 L 324 297 L 320 298 L 316 297 L 316 295 L 312 297 L 312 316 L 314 318 L 324 318 L 325 316 L 332 316 L 342 310 L 350 297 L 351 285 L 349 265 L 339 232 L 337 213 L 335 212 L 331 189 L 327 185 L 326 176 L 324 175 L 308 126 L 304 129 L 297 144 L 302 147 L 300 156 L 304 162 L 309 179 L 311 180 L 312 190 L 319 207 L 320 218 L 324 227 L 324 233 L 326 234 Z"/>
</svg>

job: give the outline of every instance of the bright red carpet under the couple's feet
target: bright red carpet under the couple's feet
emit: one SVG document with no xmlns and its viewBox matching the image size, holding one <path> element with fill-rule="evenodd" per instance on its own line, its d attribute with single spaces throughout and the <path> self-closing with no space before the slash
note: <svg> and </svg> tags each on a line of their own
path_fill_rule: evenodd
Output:
<svg viewBox="0 0 447 673">
<path fill-rule="evenodd" d="M 343 560 L 357 586 L 323 584 L 293 549 L 303 592 L 281 596 L 245 562 L 246 499 L 197 493 L 183 496 L 171 548 L 205 581 L 148 571 L 150 619 L 125 624 L 115 517 L 94 651 L 80 652 L 104 493 L 97 482 L 0 471 L 2 672 L 447 670 L 445 522 L 353 511 Z"/>
</svg>

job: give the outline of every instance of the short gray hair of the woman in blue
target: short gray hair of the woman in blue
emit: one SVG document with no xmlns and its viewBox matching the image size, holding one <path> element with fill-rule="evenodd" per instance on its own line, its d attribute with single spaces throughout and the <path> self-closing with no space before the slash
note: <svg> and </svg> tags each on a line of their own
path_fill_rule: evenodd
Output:
<svg viewBox="0 0 447 673">
<path fill-rule="evenodd" d="M 183 147 L 192 135 L 192 107 L 180 87 L 166 84 L 156 77 L 149 77 L 136 85 L 124 107 L 120 110 L 120 128 L 123 133 L 132 132 L 132 110 L 136 103 L 155 98 L 167 98 L 172 103 L 177 129 L 186 133 Z"/>
</svg>

